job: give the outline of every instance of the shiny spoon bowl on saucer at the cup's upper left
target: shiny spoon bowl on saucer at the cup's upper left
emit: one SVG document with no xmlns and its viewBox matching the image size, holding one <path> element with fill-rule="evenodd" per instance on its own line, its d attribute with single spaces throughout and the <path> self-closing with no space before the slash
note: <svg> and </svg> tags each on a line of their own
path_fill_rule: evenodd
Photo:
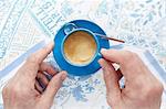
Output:
<svg viewBox="0 0 166 109">
<path fill-rule="evenodd" d="M 77 29 L 77 26 L 74 23 L 66 23 L 64 25 L 64 34 L 70 34 L 72 31 L 74 31 L 75 29 Z"/>
</svg>

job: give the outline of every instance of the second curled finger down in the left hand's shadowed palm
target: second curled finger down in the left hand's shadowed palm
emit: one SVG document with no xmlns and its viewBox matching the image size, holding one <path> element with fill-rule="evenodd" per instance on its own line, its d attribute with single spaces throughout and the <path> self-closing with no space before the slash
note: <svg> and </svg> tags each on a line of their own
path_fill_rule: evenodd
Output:
<svg viewBox="0 0 166 109">
<path fill-rule="evenodd" d="M 46 76 L 43 73 L 41 73 L 41 72 L 38 73 L 37 78 L 38 78 L 39 83 L 42 84 L 43 88 L 48 86 L 49 79 L 46 78 Z"/>
</svg>

